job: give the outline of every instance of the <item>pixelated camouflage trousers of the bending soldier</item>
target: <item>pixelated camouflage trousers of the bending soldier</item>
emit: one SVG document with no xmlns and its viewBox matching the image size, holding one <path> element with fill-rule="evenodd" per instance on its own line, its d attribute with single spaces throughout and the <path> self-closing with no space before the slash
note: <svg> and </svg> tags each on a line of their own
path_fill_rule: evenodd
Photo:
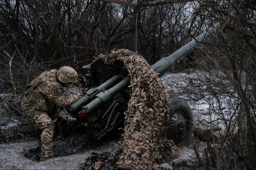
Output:
<svg viewBox="0 0 256 170">
<path fill-rule="evenodd" d="M 53 156 L 54 124 L 47 112 L 22 107 L 26 116 L 38 125 L 41 133 L 41 157 Z"/>
</svg>

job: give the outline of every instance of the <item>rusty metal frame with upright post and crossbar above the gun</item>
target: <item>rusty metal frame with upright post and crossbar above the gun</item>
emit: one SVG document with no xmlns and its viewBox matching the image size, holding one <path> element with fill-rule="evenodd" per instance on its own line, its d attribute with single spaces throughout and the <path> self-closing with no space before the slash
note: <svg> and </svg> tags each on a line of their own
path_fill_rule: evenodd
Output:
<svg viewBox="0 0 256 170">
<path fill-rule="evenodd" d="M 137 52 L 137 30 L 138 30 L 138 11 L 141 7 L 153 7 L 157 5 L 169 5 L 174 3 L 182 3 L 182 2 L 191 2 L 196 0 L 166 0 L 166 1 L 160 1 L 156 3 L 146 3 L 146 4 L 137 4 L 133 2 L 128 1 L 121 1 L 121 0 L 97 0 L 97 1 L 105 1 L 110 3 L 118 3 L 118 4 L 124 4 L 124 5 L 131 5 L 134 6 L 134 52 Z"/>
</svg>

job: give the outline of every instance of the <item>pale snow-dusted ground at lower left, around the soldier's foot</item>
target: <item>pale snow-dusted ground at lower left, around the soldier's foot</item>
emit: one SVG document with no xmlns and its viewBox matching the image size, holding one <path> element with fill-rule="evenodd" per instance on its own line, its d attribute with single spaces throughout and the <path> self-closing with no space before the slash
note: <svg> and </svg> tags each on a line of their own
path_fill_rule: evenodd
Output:
<svg viewBox="0 0 256 170">
<path fill-rule="evenodd" d="M 80 163 L 83 163 L 92 152 L 109 151 L 115 142 L 108 141 L 82 153 L 52 158 L 43 162 L 33 161 L 24 156 L 26 150 L 40 146 L 39 140 L 1 144 L 0 169 L 79 169 Z"/>
</svg>

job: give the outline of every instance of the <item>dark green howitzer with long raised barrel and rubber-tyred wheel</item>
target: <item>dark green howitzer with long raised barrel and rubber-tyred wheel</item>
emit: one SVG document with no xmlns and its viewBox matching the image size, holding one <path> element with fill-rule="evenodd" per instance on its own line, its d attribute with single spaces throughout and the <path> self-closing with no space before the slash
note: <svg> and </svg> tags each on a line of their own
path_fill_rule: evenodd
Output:
<svg viewBox="0 0 256 170">
<path fill-rule="evenodd" d="M 208 29 L 196 39 L 187 43 L 168 57 L 153 64 L 152 69 L 161 77 L 169 71 L 177 61 L 187 55 L 197 42 L 208 37 L 219 24 Z M 84 95 L 69 105 L 68 111 L 79 122 L 88 124 L 96 139 L 102 138 L 112 129 L 117 128 L 124 120 L 131 89 L 130 77 L 121 61 L 113 65 L 104 64 L 97 60 L 82 67 L 84 76 L 88 80 L 88 88 Z M 172 139 L 176 145 L 188 146 L 193 131 L 193 115 L 189 105 L 180 99 L 172 99 L 173 108 L 170 110 L 170 120 L 167 122 L 163 135 Z"/>
</svg>

